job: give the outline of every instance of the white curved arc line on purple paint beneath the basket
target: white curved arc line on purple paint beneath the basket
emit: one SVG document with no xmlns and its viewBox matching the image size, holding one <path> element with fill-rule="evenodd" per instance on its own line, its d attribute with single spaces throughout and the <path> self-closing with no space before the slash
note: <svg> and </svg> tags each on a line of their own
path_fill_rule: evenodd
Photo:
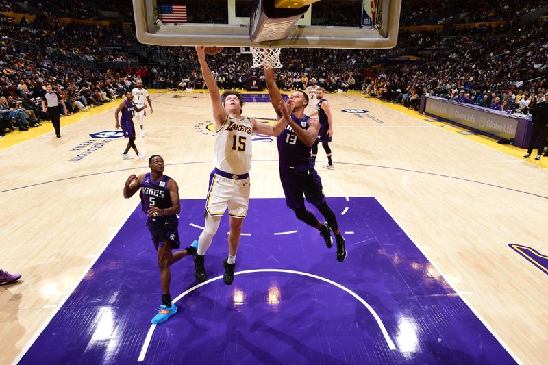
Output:
<svg viewBox="0 0 548 365">
<path fill-rule="evenodd" d="M 377 321 L 377 325 L 379 325 L 379 329 L 381 330 L 382 335 L 384 336 L 384 340 L 386 340 L 386 344 L 388 344 L 388 348 L 390 350 L 396 350 L 396 345 L 394 344 L 393 340 L 390 338 L 390 335 L 388 335 L 388 331 L 386 331 L 386 327 L 384 327 L 384 323 L 382 323 L 382 320 L 377 314 L 377 312 L 375 312 L 375 310 L 373 309 L 373 307 L 371 307 L 371 305 L 369 305 L 369 303 L 364 301 L 362 297 L 360 297 L 358 294 L 356 294 L 349 288 L 346 288 L 345 286 L 342 286 L 336 283 L 335 281 L 325 279 L 325 277 L 321 277 L 321 276 L 310 274 L 310 273 L 304 273 L 303 271 L 284 270 L 280 268 L 260 268 L 256 270 L 243 270 L 243 271 L 238 271 L 237 273 L 234 273 L 234 275 L 251 274 L 251 273 L 288 273 L 288 274 L 303 275 L 303 276 L 312 277 L 314 279 L 318 279 L 321 281 L 325 281 L 327 284 L 331 284 L 333 286 L 336 286 L 337 288 L 345 290 L 345 292 L 350 294 L 352 297 L 358 299 L 358 301 L 360 301 L 360 303 L 362 303 L 364 307 L 366 307 L 367 310 L 369 310 L 373 318 L 375 318 L 375 320 Z M 200 288 L 201 286 L 209 284 L 212 281 L 219 280 L 221 279 L 221 277 L 223 276 L 221 275 L 218 277 L 214 277 L 212 279 L 209 279 L 208 281 L 204 281 L 203 283 L 192 286 L 192 288 L 185 290 L 182 294 L 179 294 L 177 298 L 173 299 L 173 303 L 177 303 L 177 301 L 181 300 L 184 296 L 186 296 L 186 294 L 189 294 L 190 292 L 193 292 L 197 288 Z M 149 345 L 152 340 L 152 334 L 154 332 L 155 327 L 156 327 L 155 325 L 151 325 L 151 327 L 149 328 L 147 337 L 145 338 L 145 342 L 142 344 L 141 352 L 139 353 L 139 357 L 137 359 L 138 362 L 142 362 L 143 360 L 145 360 L 145 356 L 147 355 L 147 350 L 149 349 Z"/>
</svg>

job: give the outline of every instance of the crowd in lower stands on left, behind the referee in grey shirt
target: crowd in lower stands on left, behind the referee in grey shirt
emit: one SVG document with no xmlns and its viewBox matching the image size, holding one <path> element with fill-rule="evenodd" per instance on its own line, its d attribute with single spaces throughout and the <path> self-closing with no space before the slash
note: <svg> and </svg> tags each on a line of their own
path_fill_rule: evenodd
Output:
<svg viewBox="0 0 548 365">
<path fill-rule="evenodd" d="M 0 136 L 14 129 L 27 131 L 49 121 L 41 106 L 48 84 L 64 100 L 60 103 L 63 116 L 103 105 L 136 87 L 137 76 L 121 77 L 120 73 L 53 64 L 44 62 L 40 55 L 31 58 L 36 62 L 15 57 L 0 60 Z M 126 72 L 134 75 L 134 70 Z"/>
</svg>

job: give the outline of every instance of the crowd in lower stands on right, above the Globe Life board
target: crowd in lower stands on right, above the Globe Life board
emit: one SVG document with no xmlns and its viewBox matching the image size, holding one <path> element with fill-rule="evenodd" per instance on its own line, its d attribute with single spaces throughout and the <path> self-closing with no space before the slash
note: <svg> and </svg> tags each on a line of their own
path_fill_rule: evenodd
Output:
<svg viewBox="0 0 548 365">
<path fill-rule="evenodd" d="M 426 45 L 420 63 L 384 68 L 364 81 L 363 90 L 414 108 L 425 93 L 527 114 L 547 88 L 548 27 L 533 25 L 519 34 L 483 40 L 462 36 Z"/>
</svg>

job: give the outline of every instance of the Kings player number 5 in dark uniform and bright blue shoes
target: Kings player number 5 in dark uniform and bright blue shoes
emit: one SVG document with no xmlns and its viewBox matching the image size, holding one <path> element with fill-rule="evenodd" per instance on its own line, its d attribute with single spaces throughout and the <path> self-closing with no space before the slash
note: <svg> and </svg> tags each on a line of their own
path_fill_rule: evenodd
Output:
<svg viewBox="0 0 548 365">
<path fill-rule="evenodd" d="M 177 218 L 177 213 L 181 211 L 179 186 L 171 177 L 164 175 L 164 159 L 161 156 L 152 155 L 149 158 L 149 168 L 150 173 L 131 175 L 127 178 L 124 185 L 124 198 L 131 198 L 137 190 L 141 190 L 142 211 L 147 214 L 147 227 L 158 251 L 162 305 L 151 321 L 153 324 L 158 324 L 177 313 L 177 306 L 172 303 L 169 294 L 171 284 L 169 266 L 185 256 L 194 255 L 198 241 L 192 242 L 190 247 L 184 250 L 172 252 L 181 247 Z"/>
</svg>

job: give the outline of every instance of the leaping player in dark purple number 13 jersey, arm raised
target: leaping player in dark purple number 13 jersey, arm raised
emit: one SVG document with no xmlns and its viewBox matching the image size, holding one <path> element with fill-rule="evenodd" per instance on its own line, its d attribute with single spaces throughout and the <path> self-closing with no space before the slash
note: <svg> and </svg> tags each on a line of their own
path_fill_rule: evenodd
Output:
<svg viewBox="0 0 548 365">
<path fill-rule="evenodd" d="M 271 103 L 278 118 L 282 118 L 282 110 L 279 108 L 282 95 L 276 85 L 274 70 L 264 68 L 264 76 Z M 279 178 L 282 180 L 286 203 L 297 218 L 320 231 L 328 248 L 333 246 L 333 231 L 337 243 L 337 260 L 343 262 L 347 257 L 345 238 L 340 234 L 335 214 L 325 201 L 321 179 L 310 157 L 311 147 L 318 138 L 320 123 L 317 119 L 304 114 L 308 105 L 306 92 L 297 90 L 292 93 L 290 99 L 294 103 L 293 112 L 286 129 L 277 136 Z M 304 199 L 318 208 L 327 222 L 320 223 L 316 216 L 306 209 Z"/>
</svg>

